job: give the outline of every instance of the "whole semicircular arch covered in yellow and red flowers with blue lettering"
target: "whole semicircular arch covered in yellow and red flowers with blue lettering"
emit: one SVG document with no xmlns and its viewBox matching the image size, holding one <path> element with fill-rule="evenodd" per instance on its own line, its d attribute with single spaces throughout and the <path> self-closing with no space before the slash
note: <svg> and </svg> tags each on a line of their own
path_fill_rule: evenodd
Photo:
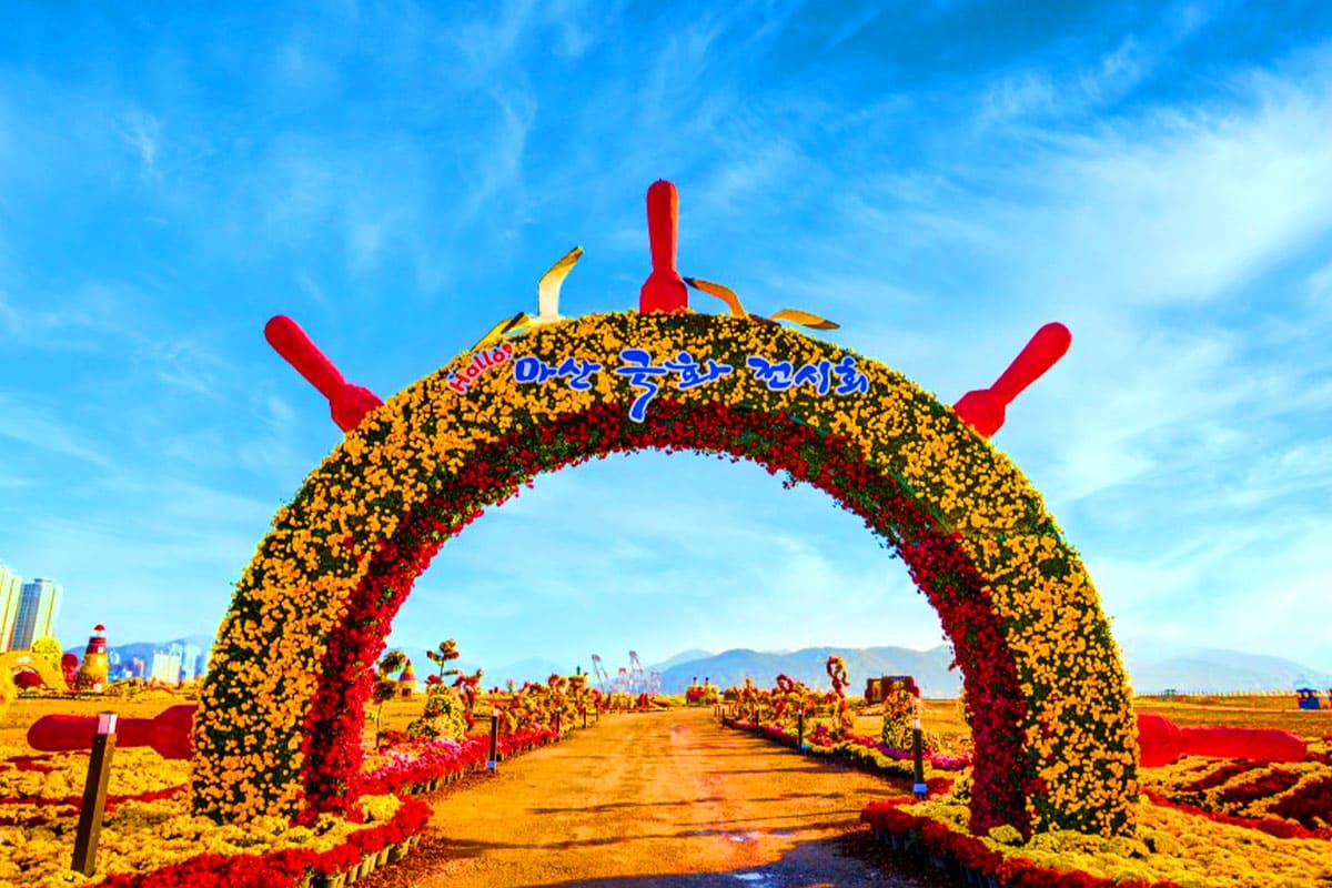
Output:
<svg viewBox="0 0 1332 888">
<path fill-rule="evenodd" d="M 900 555 L 964 676 L 974 829 L 1128 828 L 1124 671 L 1082 562 L 1018 469 L 887 366 L 755 320 L 633 312 L 461 355 L 306 478 L 222 620 L 194 724 L 196 809 L 345 809 L 358 678 L 440 546 L 539 473 L 647 447 L 811 483 Z"/>
</svg>

